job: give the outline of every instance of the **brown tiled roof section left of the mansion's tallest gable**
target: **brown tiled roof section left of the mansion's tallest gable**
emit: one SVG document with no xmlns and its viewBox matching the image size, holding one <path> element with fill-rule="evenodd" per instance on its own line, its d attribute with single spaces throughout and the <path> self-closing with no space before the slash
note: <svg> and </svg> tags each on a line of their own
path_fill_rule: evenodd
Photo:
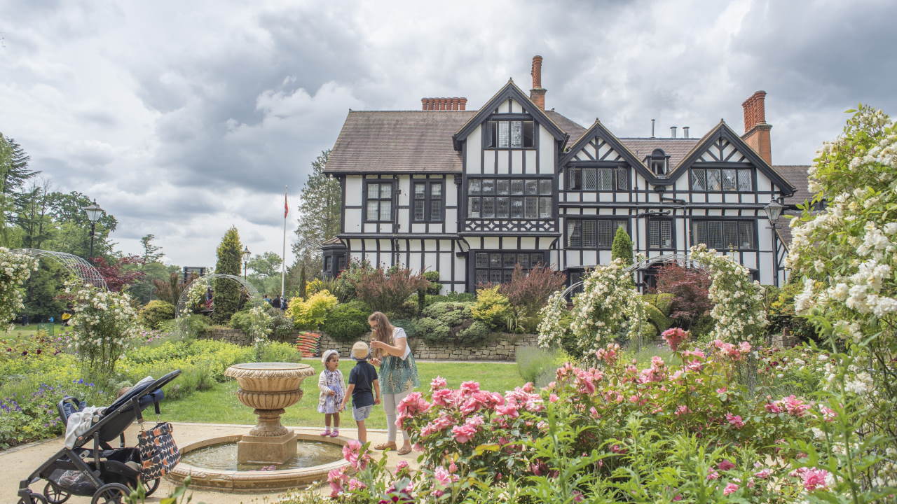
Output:
<svg viewBox="0 0 897 504">
<path fill-rule="evenodd" d="M 350 110 L 325 173 L 461 171 L 451 135 L 476 110 Z"/>
</svg>

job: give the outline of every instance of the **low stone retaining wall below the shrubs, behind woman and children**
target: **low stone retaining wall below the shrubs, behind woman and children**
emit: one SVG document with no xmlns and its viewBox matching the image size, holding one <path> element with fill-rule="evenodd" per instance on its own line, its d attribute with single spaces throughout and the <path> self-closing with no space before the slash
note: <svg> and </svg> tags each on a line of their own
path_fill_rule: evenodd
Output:
<svg viewBox="0 0 897 504">
<path fill-rule="evenodd" d="M 459 346 L 453 344 L 427 343 L 419 338 L 411 338 L 411 350 L 414 359 L 432 359 L 440 361 L 514 361 L 517 349 L 521 346 L 536 346 L 538 335 L 493 335 L 490 340 L 477 346 Z M 325 350 L 334 349 L 341 356 L 348 358 L 352 352 L 351 343 L 338 342 L 328 335 L 321 335 L 318 355 Z"/>
</svg>

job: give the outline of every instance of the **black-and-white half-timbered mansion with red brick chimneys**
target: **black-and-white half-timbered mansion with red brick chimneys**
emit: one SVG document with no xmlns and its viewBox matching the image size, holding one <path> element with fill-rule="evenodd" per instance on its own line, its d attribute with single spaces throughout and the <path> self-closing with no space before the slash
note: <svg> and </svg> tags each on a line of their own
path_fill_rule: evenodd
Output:
<svg viewBox="0 0 897 504">
<path fill-rule="evenodd" d="M 549 264 L 576 282 L 610 261 L 622 227 L 637 254 L 706 243 L 762 283 L 786 280 L 787 224 L 771 226 L 768 212 L 808 196 L 806 167 L 772 165 L 765 92 L 744 102 L 742 135 L 720 121 L 700 138 L 687 127 L 620 138 L 545 109 L 541 67 L 534 57 L 528 95 L 509 81 L 478 110 L 463 98 L 350 110 L 327 161 L 343 212 L 323 274 L 367 260 L 439 271 L 443 291 L 472 291 L 509 281 L 515 265 Z M 653 271 L 641 268 L 643 285 Z"/>
</svg>

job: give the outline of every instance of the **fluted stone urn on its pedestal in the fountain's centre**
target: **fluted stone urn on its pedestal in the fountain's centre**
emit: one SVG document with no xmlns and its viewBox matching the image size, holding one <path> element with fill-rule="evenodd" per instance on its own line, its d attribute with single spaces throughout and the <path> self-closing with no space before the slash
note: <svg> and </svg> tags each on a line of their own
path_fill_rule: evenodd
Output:
<svg viewBox="0 0 897 504">
<path fill-rule="evenodd" d="M 281 425 L 283 409 L 302 398 L 302 380 L 315 374 L 308 364 L 249 362 L 234 364 L 224 376 L 235 378 L 239 402 L 253 408 L 256 426 L 237 443 L 239 462 L 283 464 L 296 456 L 296 433 Z"/>
</svg>

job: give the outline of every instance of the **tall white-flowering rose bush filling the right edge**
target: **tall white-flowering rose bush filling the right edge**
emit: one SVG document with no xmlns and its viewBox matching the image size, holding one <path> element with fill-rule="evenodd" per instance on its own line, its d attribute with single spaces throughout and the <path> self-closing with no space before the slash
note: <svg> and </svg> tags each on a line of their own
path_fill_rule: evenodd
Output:
<svg viewBox="0 0 897 504">
<path fill-rule="evenodd" d="M 860 106 L 810 169 L 815 204 L 791 222 L 787 266 L 803 283 L 795 298 L 831 348 L 820 395 L 828 460 L 845 499 L 897 493 L 897 126 Z"/>
</svg>

